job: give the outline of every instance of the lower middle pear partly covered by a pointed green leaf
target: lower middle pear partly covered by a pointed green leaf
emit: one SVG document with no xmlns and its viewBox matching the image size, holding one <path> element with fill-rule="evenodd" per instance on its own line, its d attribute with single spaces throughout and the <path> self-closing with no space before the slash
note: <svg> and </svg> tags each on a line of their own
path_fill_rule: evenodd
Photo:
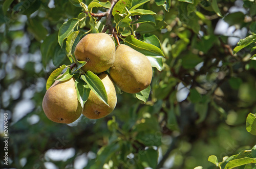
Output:
<svg viewBox="0 0 256 169">
<path fill-rule="evenodd" d="M 113 81 L 107 74 L 98 75 L 101 79 L 106 94 L 108 95 L 108 105 L 106 105 L 99 97 L 90 91 L 88 100 L 84 103 L 82 114 L 89 119 L 100 119 L 109 115 L 116 107 L 116 90 Z"/>
</svg>

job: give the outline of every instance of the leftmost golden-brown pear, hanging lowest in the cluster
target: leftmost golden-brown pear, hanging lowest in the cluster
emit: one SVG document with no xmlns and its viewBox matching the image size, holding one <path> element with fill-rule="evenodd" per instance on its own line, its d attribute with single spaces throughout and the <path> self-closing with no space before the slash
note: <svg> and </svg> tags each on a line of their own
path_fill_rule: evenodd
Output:
<svg viewBox="0 0 256 169">
<path fill-rule="evenodd" d="M 46 91 L 42 100 L 42 109 L 48 119 L 56 123 L 72 123 L 81 113 L 82 107 L 78 102 L 75 79 L 66 81 L 56 80 Z"/>
</svg>

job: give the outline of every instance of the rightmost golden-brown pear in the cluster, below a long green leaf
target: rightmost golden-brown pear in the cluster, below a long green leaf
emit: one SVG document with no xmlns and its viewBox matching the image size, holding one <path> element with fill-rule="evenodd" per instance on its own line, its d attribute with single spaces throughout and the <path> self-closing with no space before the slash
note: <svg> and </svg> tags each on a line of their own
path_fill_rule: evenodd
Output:
<svg viewBox="0 0 256 169">
<path fill-rule="evenodd" d="M 138 93 L 150 85 L 152 75 L 151 63 L 144 54 L 124 44 L 116 47 L 110 76 L 118 88 L 126 93 Z"/>
</svg>

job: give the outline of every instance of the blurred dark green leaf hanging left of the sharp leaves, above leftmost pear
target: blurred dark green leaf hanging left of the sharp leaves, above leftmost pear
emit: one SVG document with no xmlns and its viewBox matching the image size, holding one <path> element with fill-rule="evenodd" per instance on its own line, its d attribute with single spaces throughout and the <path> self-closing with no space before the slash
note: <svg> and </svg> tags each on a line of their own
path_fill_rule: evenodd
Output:
<svg viewBox="0 0 256 169">
<path fill-rule="evenodd" d="M 48 64 L 49 60 L 53 57 L 53 53 L 55 49 L 55 44 L 57 43 L 57 36 L 56 34 L 51 34 L 46 39 L 44 42 L 42 42 L 40 46 L 41 54 L 42 54 L 42 64 L 46 67 Z"/>
</svg>

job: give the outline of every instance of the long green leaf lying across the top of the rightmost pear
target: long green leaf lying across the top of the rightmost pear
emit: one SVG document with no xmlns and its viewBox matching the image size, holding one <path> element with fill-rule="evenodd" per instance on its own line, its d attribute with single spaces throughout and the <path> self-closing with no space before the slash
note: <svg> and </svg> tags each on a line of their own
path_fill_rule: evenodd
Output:
<svg viewBox="0 0 256 169">
<path fill-rule="evenodd" d="M 125 38 L 124 44 L 145 55 L 164 57 L 163 51 L 161 49 L 159 49 L 155 45 L 135 39 L 132 35 L 129 35 Z"/>
</svg>

